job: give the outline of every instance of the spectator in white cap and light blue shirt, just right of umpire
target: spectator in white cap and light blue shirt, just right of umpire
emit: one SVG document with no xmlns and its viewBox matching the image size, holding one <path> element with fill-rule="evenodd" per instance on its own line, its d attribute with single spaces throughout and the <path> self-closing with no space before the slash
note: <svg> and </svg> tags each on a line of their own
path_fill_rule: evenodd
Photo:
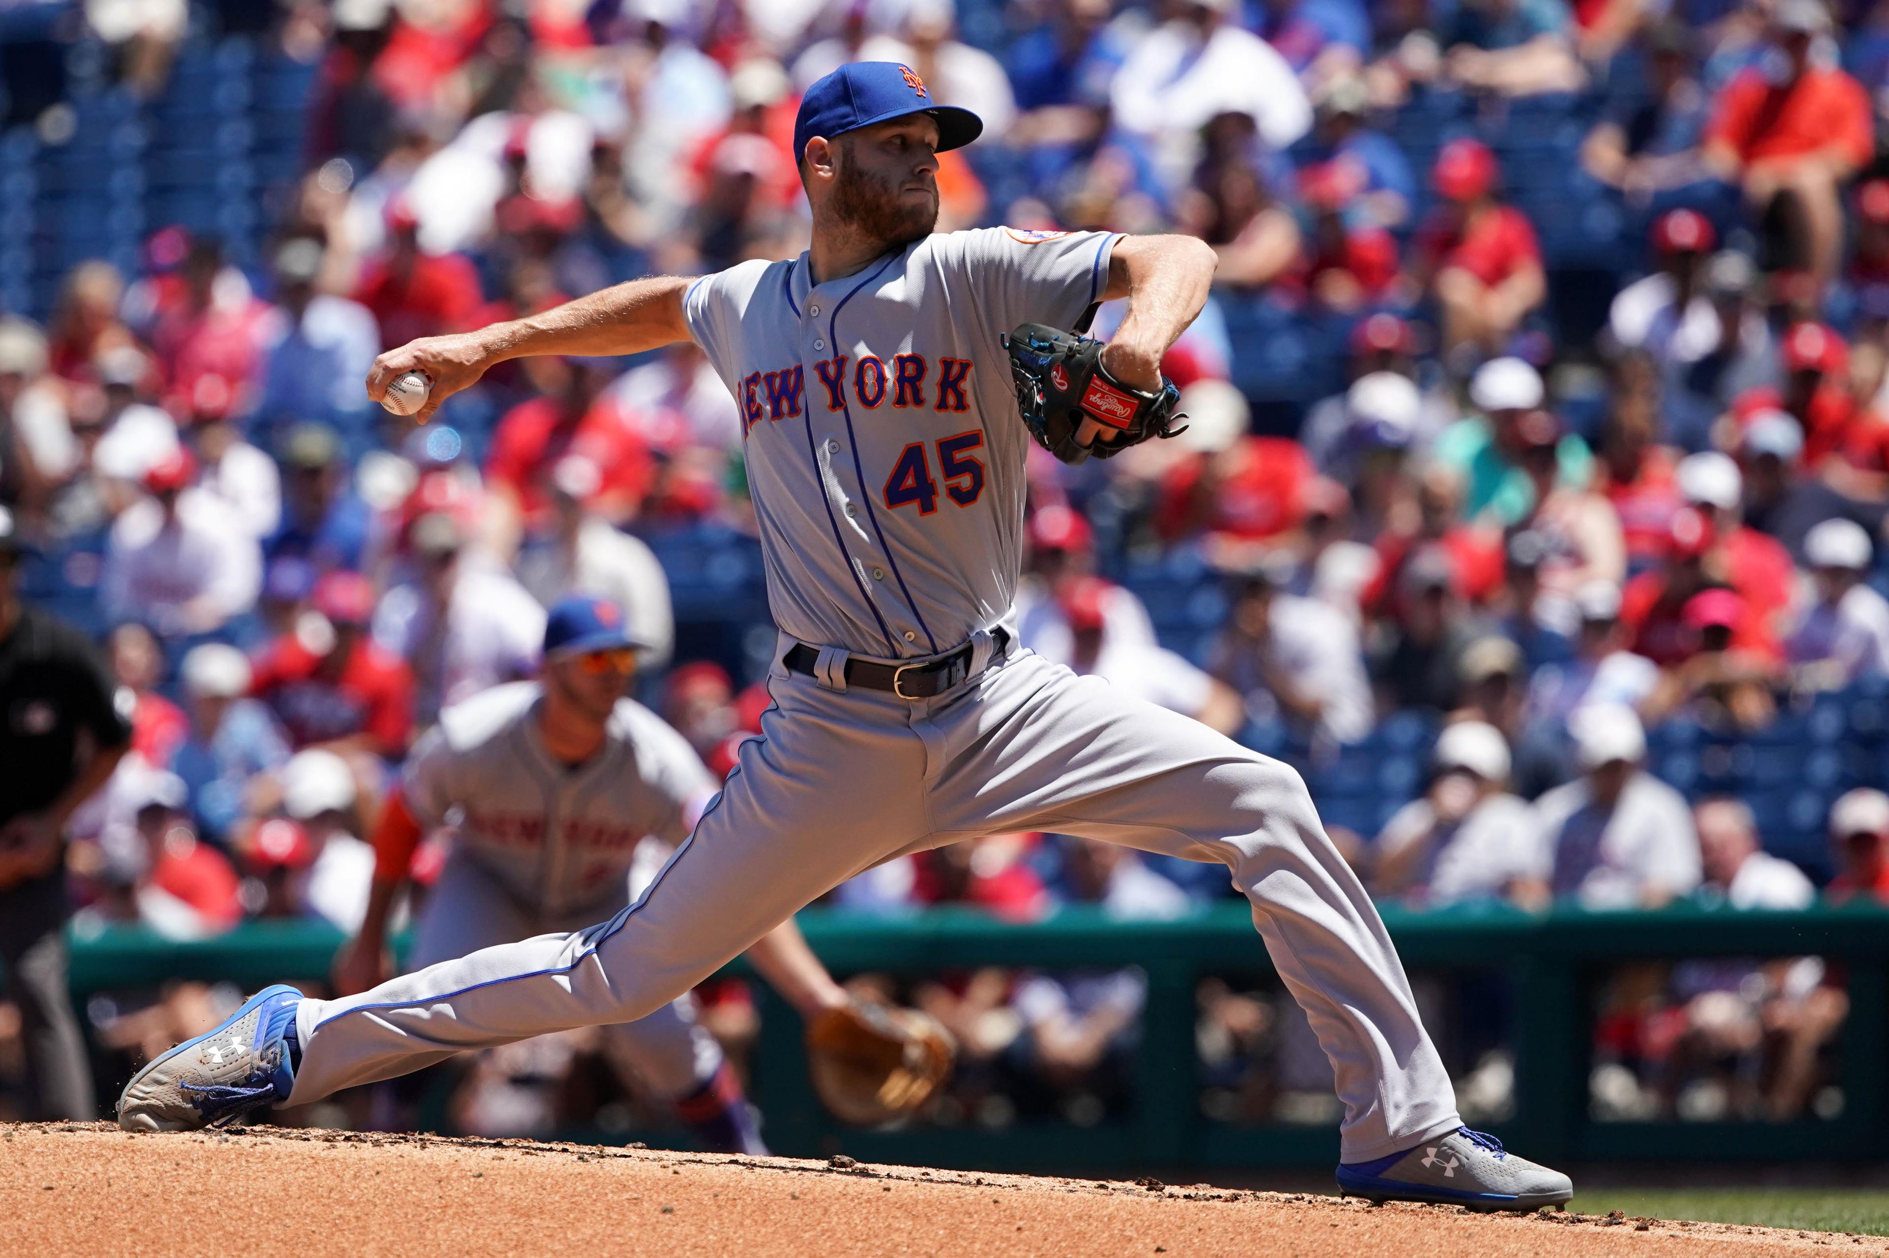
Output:
<svg viewBox="0 0 1889 1258">
<path fill-rule="evenodd" d="M 249 659 L 223 642 L 204 642 L 183 657 L 191 733 L 172 757 L 189 791 L 198 831 L 229 839 L 244 814 L 251 778 L 289 759 L 289 740 L 261 701 L 249 699 Z"/>
</svg>

